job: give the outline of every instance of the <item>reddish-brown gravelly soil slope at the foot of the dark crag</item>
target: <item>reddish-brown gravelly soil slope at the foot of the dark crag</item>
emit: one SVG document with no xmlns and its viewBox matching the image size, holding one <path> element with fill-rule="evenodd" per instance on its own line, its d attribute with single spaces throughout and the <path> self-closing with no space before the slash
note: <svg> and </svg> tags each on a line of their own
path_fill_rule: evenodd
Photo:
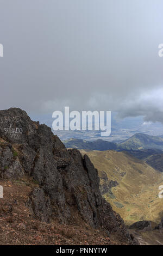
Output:
<svg viewBox="0 0 163 256">
<path fill-rule="evenodd" d="M 32 216 L 26 202 L 33 180 L 1 181 L 4 198 L 0 199 L 0 245 L 116 245 L 115 236 L 95 230 L 83 221 L 76 224 L 40 222 Z"/>
</svg>

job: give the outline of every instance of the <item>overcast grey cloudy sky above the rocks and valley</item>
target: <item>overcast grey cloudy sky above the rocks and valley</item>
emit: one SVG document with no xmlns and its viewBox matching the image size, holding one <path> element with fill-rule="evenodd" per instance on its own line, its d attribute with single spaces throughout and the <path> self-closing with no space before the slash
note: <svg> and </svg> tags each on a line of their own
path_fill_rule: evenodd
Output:
<svg viewBox="0 0 163 256">
<path fill-rule="evenodd" d="M 162 0 L 0 0 L 0 108 L 163 122 Z"/>
</svg>

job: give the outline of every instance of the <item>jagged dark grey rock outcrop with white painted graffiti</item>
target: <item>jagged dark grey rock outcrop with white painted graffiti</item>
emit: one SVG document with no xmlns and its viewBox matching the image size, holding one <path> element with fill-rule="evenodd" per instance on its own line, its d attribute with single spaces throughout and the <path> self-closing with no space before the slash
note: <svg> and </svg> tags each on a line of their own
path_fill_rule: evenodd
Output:
<svg viewBox="0 0 163 256">
<path fill-rule="evenodd" d="M 33 176 L 39 187 L 29 195 L 34 215 L 49 222 L 80 216 L 92 227 L 116 232 L 133 244 L 123 223 L 99 191 L 99 178 L 89 157 L 67 150 L 51 129 L 30 120 L 18 108 L 0 111 L 1 179 Z"/>
</svg>

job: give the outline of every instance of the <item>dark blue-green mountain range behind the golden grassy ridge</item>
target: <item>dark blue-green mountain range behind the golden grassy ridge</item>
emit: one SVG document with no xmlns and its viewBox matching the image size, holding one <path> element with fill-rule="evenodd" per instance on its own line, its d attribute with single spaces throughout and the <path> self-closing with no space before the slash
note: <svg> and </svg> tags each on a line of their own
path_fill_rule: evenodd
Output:
<svg viewBox="0 0 163 256">
<path fill-rule="evenodd" d="M 163 137 L 163 136 L 161 136 Z M 97 141 L 84 141 L 83 139 L 70 139 L 65 141 L 66 148 L 91 150 L 126 151 L 137 159 L 147 162 L 150 166 L 163 172 L 163 138 L 136 133 L 122 143 L 113 143 L 97 139 Z"/>
</svg>

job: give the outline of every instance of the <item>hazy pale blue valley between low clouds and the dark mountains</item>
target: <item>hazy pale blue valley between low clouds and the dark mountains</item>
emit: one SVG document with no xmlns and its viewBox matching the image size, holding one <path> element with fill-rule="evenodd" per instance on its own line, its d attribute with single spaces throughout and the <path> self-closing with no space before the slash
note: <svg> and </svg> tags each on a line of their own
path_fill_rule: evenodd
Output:
<svg viewBox="0 0 163 256">
<path fill-rule="evenodd" d="M 81 130 L 75 131 L 67 131 L 67 130 L 58 130 L 54 131 L 52 128 L 52 124 L 54 118 L 52 118 L 52 114 L 41 114 L 41 115 L 33 115 L 30 116 L 32 120 L 40 121 L 40 124 L 46 124 L 51 127 L 54 135 L 57 135 L 61 141 L 66 141 L 70 138 L 76 139 L 84 139 L 86 141 L 95 141 L 96 139 L 104 139 L 105 141 L 121 143 L 124 142 L 125 139 L 135 135 L 135 133 L 144 133 L 152 136 L 158 136 L 163 134 L 163 125 L 161 123 L 146 123 L 143 124 L 143 117 L 135 117 L 135 118 L 124 118 L 117 120 L 117 112 L 111 112 L 111 136 L 109 137 L 101 137 L 101 131 L 96 131 L 93 129 L 92 131 L 83 131 Z M 106 121 L 106 120 L 105 120 Z M 163 136 L 162 136 L 163 138 Z"/>
</svg>

